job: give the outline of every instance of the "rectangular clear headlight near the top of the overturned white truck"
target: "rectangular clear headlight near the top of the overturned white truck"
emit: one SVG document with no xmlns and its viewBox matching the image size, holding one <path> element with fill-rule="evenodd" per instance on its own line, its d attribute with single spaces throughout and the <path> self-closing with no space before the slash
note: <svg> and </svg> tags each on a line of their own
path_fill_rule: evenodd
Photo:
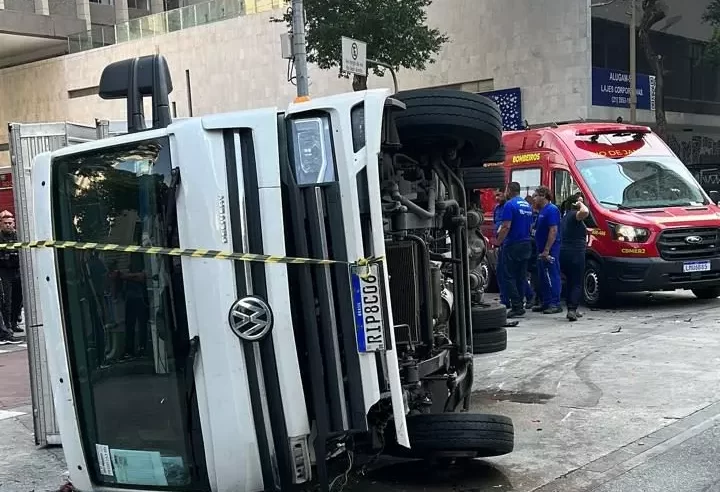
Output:
<svg viewBox="0 0 720 492">
<path fill-rule="evenodd" d="M 335 181 L 330 119 L 326 116 L 292 120 L 292 148 L 298 185 Z"/>
</svg>

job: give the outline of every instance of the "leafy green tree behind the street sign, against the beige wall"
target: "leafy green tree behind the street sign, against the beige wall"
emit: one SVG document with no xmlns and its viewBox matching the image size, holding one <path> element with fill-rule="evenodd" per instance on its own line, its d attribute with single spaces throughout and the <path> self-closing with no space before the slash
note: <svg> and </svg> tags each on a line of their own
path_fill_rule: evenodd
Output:
<svg viewBox="0 0 720 492">
<path fill-rule="evenodd" d="M 424 70 L 448 37 L 427 26 L 432 0 L 305 0 L 308 61 L 328 70 L 340 65 L 340 38 L 367 43 L 367 57 L 395 70 Z M 285 15 L 291 26 L 292 13 Z M 383 70 L 373 67 L 383 75 Z M 343 76 L 344 74 L 341 74 Z M 367 89 L 367 77 L 353 77 L 353 89 Z"/>
</svg>

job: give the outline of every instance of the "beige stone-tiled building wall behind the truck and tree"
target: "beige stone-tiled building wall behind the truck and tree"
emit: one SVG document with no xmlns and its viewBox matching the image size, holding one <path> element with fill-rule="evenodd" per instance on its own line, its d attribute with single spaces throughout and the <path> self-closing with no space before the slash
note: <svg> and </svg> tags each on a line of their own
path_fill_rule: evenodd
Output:
<svg viewBox="0 0 720 492">
<path fill-rule="evenodd" d="M 248 15 L 0 70 L 0 143 L 7 142 L 9 121 L 123 119 L 123 102 L 83 94 L 97 85 L 108 63 L 155 52 L 168 59 L 178 116 L 188 115 L 186 70 L 195 115 L 285 105 L 295 91 L 286 80 L 287 62 L 280 58 L 285 26 L 270 22 L 281 14 Z M 588 0 L 435 0 L 428 18 L 450 42 L 426 71 L 401 71 L 401 89 L 477 81 L 484 81 L 480 86 L 485 89 L 519 86 L 523 117 L 531 123 L 587 116 Z M 313 67 L 310 77 L 314 96 L 351 90 L 337 71 Z M 371 77 L 369 85 L 391 83 L 390 77 Z"/>
</svg>

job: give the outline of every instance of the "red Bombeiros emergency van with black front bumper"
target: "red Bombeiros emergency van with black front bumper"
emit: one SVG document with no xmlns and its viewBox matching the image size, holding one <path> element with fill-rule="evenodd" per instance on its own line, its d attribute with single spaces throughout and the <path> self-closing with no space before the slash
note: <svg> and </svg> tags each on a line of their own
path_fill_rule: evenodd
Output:
<svg viewBox="0 0 720 492">
<path fill-rule="evenodd" d="M 506 181 L 548 186 L 558 206 L 582 191 L 588 258 L 584 298 L 690 289 L 720 297 L 720 208 L 645 126 L 581 123 L 503 135 Z"/>
</svg>

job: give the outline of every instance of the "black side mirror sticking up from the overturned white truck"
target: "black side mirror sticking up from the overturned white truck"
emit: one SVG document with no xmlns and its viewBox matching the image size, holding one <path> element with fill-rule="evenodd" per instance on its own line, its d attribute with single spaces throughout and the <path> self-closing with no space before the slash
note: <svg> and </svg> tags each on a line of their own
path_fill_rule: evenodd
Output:
<svg viewBox="0 0 720 492">
<path fill-rule="evenodd" d="M 172 122 L 170 99 L 172 79 L 162 55 L 149 55 L 111 63 L 100 77 L 99 94 L 103 99 L 127 99 L 128 133 L 145 128 L 143 98 L 152 97 L 153 129 Z"/>
</svg>

